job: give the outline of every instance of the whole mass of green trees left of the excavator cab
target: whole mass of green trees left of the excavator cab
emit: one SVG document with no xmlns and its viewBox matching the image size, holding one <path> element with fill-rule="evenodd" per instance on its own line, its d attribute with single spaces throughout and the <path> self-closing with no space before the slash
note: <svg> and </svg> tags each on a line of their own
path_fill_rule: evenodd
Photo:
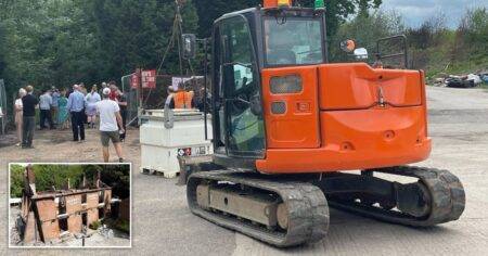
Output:
<svg viewBox="0 0 488 256">
<path fill-rule="evenodd" d="M 172 0 L 0 0 L 0 76 L 7 93 L 118 80 L 154 68 L 171 34 Z M 183 30 L 195 33 L 196 10 L 182 5 Z M 176 50 L 164 73 L 177 71 Z M 8 98 L 12 111 L 12 97 Z"/>
</svg>

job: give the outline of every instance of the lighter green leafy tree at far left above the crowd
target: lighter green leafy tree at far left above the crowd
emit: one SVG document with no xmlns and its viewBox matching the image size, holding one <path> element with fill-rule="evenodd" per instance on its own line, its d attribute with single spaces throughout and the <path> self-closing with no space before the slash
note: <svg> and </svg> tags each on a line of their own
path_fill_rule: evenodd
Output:
<svg viewBox="0 0 488 256">
<path fill-rule="evenodd" d="M 93 34 L 75 0 L 0 2 L 1 76 L 7 93 L 93 81 L 99 74 Z M 12 98 L 8 98 L 10 107 Z"/>
</svg>

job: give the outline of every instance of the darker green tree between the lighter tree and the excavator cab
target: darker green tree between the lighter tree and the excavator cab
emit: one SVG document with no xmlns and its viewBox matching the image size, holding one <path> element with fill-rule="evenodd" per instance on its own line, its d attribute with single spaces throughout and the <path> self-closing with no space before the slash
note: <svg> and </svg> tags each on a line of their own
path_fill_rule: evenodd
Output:
<svg viewBox="0 0 488 256">
<path fill-rule="evenodd" d="M 171 35 L 176 5 L 174 0 L 90 0 L 86 15 L 94 21 L 104 74 L 118 79 L 137 67 L 157 67 Z M 181 9 L 183 31 L 195 33 L 196 10 L 192 1 Z M 166 63 L 165 73 L 177 72 L 177 51 Z"/>
</svg>

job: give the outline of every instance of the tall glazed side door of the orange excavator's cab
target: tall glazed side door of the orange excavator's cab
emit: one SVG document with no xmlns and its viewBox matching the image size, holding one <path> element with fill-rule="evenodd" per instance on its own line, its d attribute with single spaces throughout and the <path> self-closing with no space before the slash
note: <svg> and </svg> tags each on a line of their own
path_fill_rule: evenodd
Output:
<svg viewBox="0 0 488 256">
<path fill-rule="evenodd" d="M 221 20 L 214 31 L 214 92 L 218 124 L 216 153 L 259 157 L 265 152 L 259 73 L 248 23 L 243 16 Z M 219 150 L 220 148 L 220 150 Z M 219 152 L 220 151 L 220 152 Z"/>
</svg>

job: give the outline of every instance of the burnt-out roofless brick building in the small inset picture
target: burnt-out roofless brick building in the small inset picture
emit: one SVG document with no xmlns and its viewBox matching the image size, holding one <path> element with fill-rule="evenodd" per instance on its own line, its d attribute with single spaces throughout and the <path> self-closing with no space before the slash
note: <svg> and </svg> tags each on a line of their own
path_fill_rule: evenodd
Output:
<svg viewBox="0 0 488 256">
<path fill-rule="evenodd" d="M 30 166 L 24 172 L 22 196 L 22 227 L 24 243 L 60 239 L 62 234 L 82 233 L 84 229 L 111 212 L 112 189 L 100 180 L 100 172 L 88 183 L 84 177 L 81 188 L 36 191 L 35 175 Z"/>
</svg>

